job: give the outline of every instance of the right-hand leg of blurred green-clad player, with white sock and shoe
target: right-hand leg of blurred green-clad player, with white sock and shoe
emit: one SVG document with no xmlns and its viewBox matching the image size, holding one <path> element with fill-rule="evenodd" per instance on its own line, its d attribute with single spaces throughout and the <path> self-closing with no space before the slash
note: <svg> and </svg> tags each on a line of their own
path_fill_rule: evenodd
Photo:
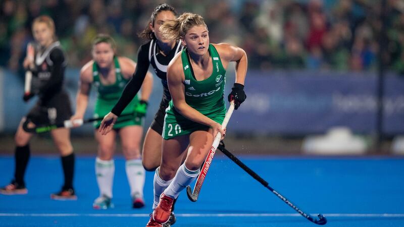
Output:
<svg viewBox="0 0 404 227">
<path fill-rule="evenodd" d="M 130 195 L 133 198 L 133 207 L 143 207 L 144 168 L 140 159 L 140 141 L 143 135 L 142 126 L 127 126 L 119 131 L 123 154 L 126 159 L 126 176 L 130 186 Z"/>
</svg>

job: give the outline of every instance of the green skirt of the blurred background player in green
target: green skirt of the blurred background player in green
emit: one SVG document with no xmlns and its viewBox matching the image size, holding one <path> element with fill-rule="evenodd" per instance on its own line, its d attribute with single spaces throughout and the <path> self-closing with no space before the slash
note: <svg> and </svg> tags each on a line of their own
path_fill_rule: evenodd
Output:
<svg viewBox="0 0 404 227">
<path fill-rule="evenodd" d="M 106 116 L 114 107 L 117 101 L 118 100 L 104 100 L 97 98 L 94 108 L 94 118 Z M 138 102 L 137 98 L 136 97 L 133 98 L 133 100 L 128 104 L 128 106 L 126 106 L 126 108 L 122 111 L 121 117 L 118 118 L 118 121 L 115 123 L 113 129 L 121 129 L 132 125 L 139 125 L 139 126 L 144 125 L 144 117 L 141 118 L 137 117 L 136 114 L 137 112 L 133 111 L 134 106 L 137 102 Z M 129 113 L 133 113 L 133 115 L 124 116 L 128 115 Z M 95 121 L 93 123 L 94 128 L 99 128 L 100 125 L 101 121 Z"/>
</svg>

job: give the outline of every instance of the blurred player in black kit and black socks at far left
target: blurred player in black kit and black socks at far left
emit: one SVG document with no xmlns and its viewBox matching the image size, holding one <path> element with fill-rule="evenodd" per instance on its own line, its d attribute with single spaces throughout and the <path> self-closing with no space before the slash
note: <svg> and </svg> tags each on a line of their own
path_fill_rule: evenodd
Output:
<svg viewBox="0 0 404 227">
<path fill-rule="evenodd" d="M 32 125 L 55 124 L 69 120 L 72 115 L 69 96 L 63 89 L 63 78 L 67 61 L 65 54 L 55 35 L 55 24 L 52 18 L 40 16 L 32 23 L 32 33 L 37 43 L 34 59 L 26 58 L 24 68 L 32 71 L 32 81 L 37 87 L 24 95 L 28 101 L 38 96 L 35 106 L 24 117 L 15 135 L 15 172 L 13 181 L 0 189 L 2 194 L 26 194 L 24 175 L 30 157 L 29 141 L 33 134 L 25 132 L 22 123 L 28 121 Z M 29 126 L 30 127 L 30 126 Z M 74 153 L 70 142 L 70 130 L 65 128 L 51 131 L 52 138 L 62 156 L 65 183 L 62 190 L 51 194 L 53 199 L 77 199 L 73 190 Z"/>
</svg>

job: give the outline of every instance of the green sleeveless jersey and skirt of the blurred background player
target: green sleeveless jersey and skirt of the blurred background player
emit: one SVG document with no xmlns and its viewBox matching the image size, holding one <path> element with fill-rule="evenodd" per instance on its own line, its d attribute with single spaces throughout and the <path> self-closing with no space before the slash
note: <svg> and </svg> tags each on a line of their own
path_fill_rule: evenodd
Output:
<svg viewBox="0 0 404 227">
<path fill-rule="evenodd" d="M 119 97 L 122 94 L 123 89 L 129 82 L 129 79 L 125 79 L 121 73 L 121 67 L 119 66 L 118 58 L 114 57 L 115 64 L 115 83 L 110 85 L 104 85 L 100 81 L 100 75 L 98 72 L 98 65 L 94 61 L 92 65 L 92 75 L 93 75 L 93 85 L 97 90 L 97 98 L 94 107 L 94 118 L 106 116 L 114 105 L 118 102 Z M 122 111 L 122 115 L 127 113 L 133 113 L 134 107 L 138 103 L 139 99 L 137 95 L 132 99 L 132 101 L 126 106 Z M 120 123 L 120 118 L 118 122 L 114 125 L 114 129 L 123 128 L 128 125 L 141 125 L 142 119 L 133 117 L 133 120 L 125 121 Z M 123 117 L 121 120 L 124 120 Z M 94 127 L 98 128 L 101 121 L 94 122 Z"/>
</svg>

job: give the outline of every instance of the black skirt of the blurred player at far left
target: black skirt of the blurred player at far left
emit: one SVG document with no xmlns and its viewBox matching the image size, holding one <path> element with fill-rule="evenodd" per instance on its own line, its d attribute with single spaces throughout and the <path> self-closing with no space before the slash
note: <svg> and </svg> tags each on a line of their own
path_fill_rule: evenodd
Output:
<svg viewBox="0 0 404 227">
<path fill-rule="evenodd" d="M 62 91 L 48 99 L 46 104 L 39 99 L 28 112 L 27 120 L 35 125 L 56 124 L 69 120 L 72 114 L 69 95 Z"/>
</svg>

